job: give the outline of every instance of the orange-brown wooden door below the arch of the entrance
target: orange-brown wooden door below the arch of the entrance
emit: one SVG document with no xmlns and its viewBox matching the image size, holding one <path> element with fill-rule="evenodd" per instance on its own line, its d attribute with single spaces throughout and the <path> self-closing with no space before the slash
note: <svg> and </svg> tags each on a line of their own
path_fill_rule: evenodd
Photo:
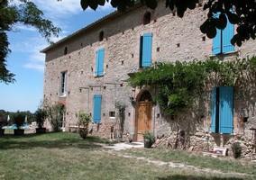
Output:
<svg viewBox="0 0 256 180">
<path fill-rule="evenodd" d="M 139 102 L 137 107 L 137 139 L 143 141 L 143 134 L 151 130 L 151 102 Z"/>
</svg>

